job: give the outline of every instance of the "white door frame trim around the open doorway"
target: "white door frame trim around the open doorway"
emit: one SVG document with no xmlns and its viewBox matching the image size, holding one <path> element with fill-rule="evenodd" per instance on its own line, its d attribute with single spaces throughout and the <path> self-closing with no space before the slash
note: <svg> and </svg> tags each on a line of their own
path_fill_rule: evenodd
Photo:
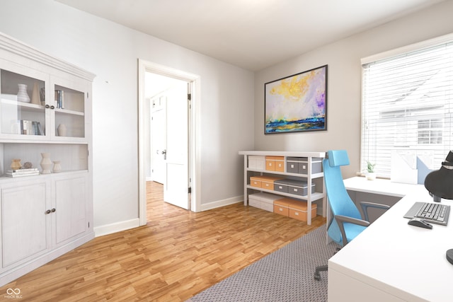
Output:
<svg viewBox="0 0 453 302">
<path fill-rule="evenodd" d="M 189 178 L 191 180 L 191 211 L 200 211 L 200 148 L 198 144 L 198 136 L 200 133 L 200 76 L 190 74 L 185 71 L 173 69 L 168 66 L 148 62 L 143 59 L 138 59 L 138 118 L 139 118 L 139 224 L 144 226 L 147 224 L 147 180 L 145 173 L 145 156 L 146 154 L 146 131 L 145 131 L 145 81 L 144 77 L 147 72 L 168 76 L 174 79 L 180 79 L 192 83 L 191 89 L 191 110 L 188 118 L 188 148 L 189 148 Z"/>
</svg>

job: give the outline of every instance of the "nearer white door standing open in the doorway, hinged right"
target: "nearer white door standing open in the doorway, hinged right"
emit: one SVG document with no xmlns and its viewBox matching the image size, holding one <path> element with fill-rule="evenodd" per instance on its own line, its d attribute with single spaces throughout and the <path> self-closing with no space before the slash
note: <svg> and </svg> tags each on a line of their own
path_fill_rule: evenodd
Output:
<svg viewBox="0 0 453 302">
<path fill-rule="evenodd" d="M 188 84 L 176 81 L 168 90 L 166 119 L 166 181 L 164 201 L 190 209 L 188 166 Z"/>
</svg>

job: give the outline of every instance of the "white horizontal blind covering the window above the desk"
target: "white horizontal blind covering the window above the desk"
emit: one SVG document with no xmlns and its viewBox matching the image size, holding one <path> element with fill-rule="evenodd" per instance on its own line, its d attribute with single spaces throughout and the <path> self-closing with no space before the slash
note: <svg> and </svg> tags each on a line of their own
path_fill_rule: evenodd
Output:
<svg viewBox="0 0 453 302">
<path fill-rule="evenodd" d="M 390 177 L 394 151 L 432 158 L 453 149 L 453 41 L 362 65 L 361 168 Z"/>
</svg>

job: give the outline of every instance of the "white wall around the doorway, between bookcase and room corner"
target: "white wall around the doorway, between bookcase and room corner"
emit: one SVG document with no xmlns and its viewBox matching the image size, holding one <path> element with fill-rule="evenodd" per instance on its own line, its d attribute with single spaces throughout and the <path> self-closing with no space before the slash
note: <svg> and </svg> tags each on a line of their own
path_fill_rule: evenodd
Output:
<svg viewBox="0 0 453 302">
<path fill-rule="evenodd" d="M 138 217 L 138 58 L 200 76 L 201 203 L 241 196 L 237 151 L 253 148 L 251 71 L 52 0 L 0 0 L 0 31 L 97 75 L 95 228 Z"/>
</svg>

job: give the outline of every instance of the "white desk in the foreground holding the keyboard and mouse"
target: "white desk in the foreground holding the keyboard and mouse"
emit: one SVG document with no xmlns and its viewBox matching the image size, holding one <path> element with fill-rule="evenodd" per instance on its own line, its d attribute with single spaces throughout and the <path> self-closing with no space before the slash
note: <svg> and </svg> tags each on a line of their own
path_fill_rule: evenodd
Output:
<svg viewBox="0 0 453 302">
<path fill-rule="evenodd" d="M 453 248 L 453 212 L 448 226 L 409 226 L 403 215 L 413 203 L 432 202 L 423 185 L 410 186 L 405 197 L 328 261 L 329 302 L 453 301 L 453 265 L 445 258 Z"/>
</svg>

